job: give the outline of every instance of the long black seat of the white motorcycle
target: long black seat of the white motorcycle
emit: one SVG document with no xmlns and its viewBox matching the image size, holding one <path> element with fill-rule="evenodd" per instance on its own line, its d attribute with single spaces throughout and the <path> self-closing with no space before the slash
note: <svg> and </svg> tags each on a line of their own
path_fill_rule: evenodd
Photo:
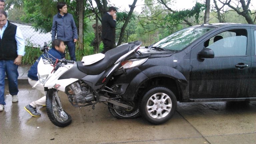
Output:
<svg viewBox="0 0 256 144">
<path fill-rule="evenodd" d="M 81 61 L 77 61 L 78 69 L 87 75 L 98 75 L 113 65 L 122 55 L 128 53 L 129 44 L 124 44 L 113 48 L 105 53 L 105 57 L 98 62 L 90 65 L 83 65 Z"/>
</svg>

